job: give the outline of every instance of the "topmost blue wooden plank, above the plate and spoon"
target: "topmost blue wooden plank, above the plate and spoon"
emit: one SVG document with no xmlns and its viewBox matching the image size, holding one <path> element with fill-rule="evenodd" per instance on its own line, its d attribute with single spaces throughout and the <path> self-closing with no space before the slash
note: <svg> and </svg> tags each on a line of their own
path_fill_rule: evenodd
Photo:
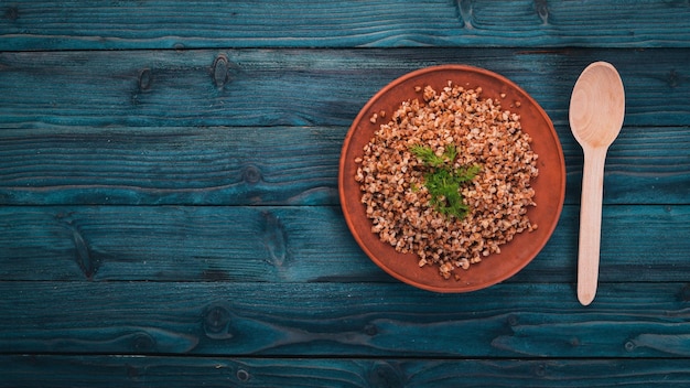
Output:
<svg viewBox="0 0 690 388">
<path fill-rule="evenodd" d="M 0 51 L 690 45 L 686 1 L 32 1 L 2 7 Z M 619 22 L 624 21 L 624 22 Z M 144 28 L 145 26 L 145 28 Z"/>
</svg>

